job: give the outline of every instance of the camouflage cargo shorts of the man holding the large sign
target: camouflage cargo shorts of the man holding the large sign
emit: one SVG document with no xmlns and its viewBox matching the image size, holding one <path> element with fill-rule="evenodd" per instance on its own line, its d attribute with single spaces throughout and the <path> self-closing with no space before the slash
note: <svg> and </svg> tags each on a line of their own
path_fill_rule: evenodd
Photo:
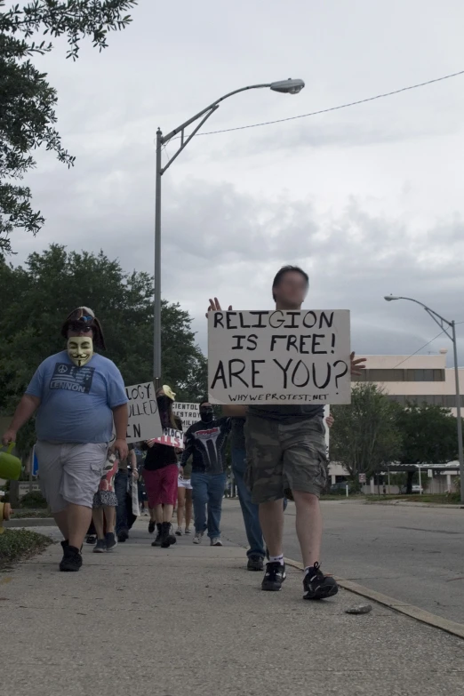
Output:
<svg viewBox="0 0 464 696">
<path fill-rule="evenodd" d="M 327 474 L 322 418 L 280 423 L 248 416 L 245 423 L 245 481 L 254 503 L 284 498 L 285 491 L 324 491 Z"/>
</svg>

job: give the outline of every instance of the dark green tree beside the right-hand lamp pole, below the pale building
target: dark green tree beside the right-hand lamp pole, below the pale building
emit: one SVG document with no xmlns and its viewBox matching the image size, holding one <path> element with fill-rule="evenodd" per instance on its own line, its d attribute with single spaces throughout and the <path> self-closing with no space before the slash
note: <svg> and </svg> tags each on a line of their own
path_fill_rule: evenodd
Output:
<svg viewBox="0 0 464 696">
<path fill-rule="evenodd" d="M 398 427 L 403 433 L 400 463 L 445 464 L 458 459 L 458 427 L 449 409 L 433 404 L 407 404 L 399 412 Z M 412 492 L 414 475 L 414 471 L 407 473 L 408 493 Z"/>
</svg>

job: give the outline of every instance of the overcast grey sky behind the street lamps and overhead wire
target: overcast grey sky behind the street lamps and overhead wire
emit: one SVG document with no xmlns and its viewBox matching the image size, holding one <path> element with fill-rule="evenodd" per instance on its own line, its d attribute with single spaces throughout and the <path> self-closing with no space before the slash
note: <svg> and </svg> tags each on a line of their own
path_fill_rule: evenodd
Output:
<svg viewBox="0 0 464 696">
<path fill-rule="evenodd" d="M 36 60 L 58 89 L 58 125 L 76 166 L 37 157 L 28 184 L 46 225 L 35 239 L 15 234 L 14 262 L 58 242 L 152 271 L 156 127 L 168 132 L 226 92 L 306 82 L 297 96 L 239 94 L 204 132 L 464 69 L 460 0 L 140 0 L 132 18 L 105 52 L 83 44 L 73 64 L 55 41 Z M 463 149 L 464 76 L 196 138 L 163 178 L 164 297 L 195 317 L 205 348 L 210 296 L 270 308 L 276 270 L 298 263 L 311 278 L 308 307 L 351 310 L 357 352 L 410 354 L 439 330 L 420 308 L 383 295 L 464 321 Z M 441 337 L 422 352 L 446 345 Z"/>
</svg>

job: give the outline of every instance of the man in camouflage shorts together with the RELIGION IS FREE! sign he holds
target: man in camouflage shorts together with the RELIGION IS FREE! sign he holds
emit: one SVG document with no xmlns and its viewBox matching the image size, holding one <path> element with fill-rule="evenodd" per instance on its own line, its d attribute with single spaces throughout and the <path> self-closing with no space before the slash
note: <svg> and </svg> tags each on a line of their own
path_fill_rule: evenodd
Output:
<svg viewBox="0 0 464 696">
<path fill-rule="evenodd" d="M 234 313 L 229 307 L 226 313 L 218 300 L 210 300 L 208 380 L 212 403 L 227 404 L 226 415 L 247 419 L 246 477 L 252 501 L 260 506 L 269 553 L 261 588 L 280 590 L 286 577 L 282 500 L 290 489 L 305 566 L 304 598 L 324 599 L 338 592 L 319 563 L 319 496 L 326 483 L 324 404 L 347 403 L 348 364 L 351 374 L 359 374 L 364 360 L 349 354 L 347 312 L 300 311 L 308 280 L 300 268 L 281 268 L 272 285 L 276 312 Z M 223 348 L 215 350 L 215 337 L 231 341 L 233 358 L 226 360 Z M 270 358 L 260 353 L 263 342 Z M 214 360 L 216 355 L 224 359 Z"/>
</svg>

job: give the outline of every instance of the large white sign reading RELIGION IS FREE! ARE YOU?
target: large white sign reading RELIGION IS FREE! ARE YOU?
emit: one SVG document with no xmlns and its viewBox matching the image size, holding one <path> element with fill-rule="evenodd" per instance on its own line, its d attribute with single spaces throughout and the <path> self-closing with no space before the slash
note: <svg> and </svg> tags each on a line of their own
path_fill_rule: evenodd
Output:
<svg viewBox="0 0 464 696">
<path fill-rule="evenodd" d="M 208 313 L 212 404 L 349 404 L 349 311 Z"/>
</svg>

